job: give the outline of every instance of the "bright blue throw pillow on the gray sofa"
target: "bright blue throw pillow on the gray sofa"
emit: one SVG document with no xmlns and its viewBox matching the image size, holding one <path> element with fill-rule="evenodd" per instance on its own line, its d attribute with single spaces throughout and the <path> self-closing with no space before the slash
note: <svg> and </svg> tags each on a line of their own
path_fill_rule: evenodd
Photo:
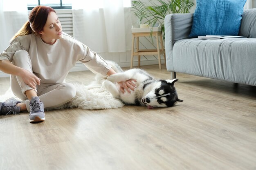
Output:
<svg viewBox="0 0 256 170">
<path fill-rule="evenodd" d="M 189 38 L 238 35 L 246 0 L 197 0 Z"/>
</svg>

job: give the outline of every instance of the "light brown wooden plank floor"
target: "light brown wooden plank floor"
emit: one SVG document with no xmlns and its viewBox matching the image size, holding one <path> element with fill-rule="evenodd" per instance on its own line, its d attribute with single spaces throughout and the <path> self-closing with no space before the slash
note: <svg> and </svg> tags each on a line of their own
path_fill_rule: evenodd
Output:
<svg viewBox="0 0 256 170">
<path fill-rule="evenodd" d="M 158 65 L 142 66 L 168 79 Z M 171 108 L 63 109 L 0 117 L 0 170 L 256 170 L 256 87 L 177 73 Z M 68 82 L 89 84 L 89 71 Z M 0 79 L 0 95 L 9 78 Z"/>
</svg>

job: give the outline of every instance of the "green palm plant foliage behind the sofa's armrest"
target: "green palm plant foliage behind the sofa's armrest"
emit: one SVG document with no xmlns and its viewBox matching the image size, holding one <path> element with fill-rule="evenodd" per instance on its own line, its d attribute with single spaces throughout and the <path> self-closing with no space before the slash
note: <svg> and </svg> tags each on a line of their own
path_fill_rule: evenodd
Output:
<svg viewBox="0 0 256 170">
<path fill-rule="evenodd" d="M 160 24 L 164 37 L 164 17 L 171 13 L 189 13 L 193 7 L 193 0 L 149 0 L 148 3 L 141 0 L 133 0 L 131 10 L 138 18 L 138 23 L 150 25 L 152 27 Z"/>
</svg>

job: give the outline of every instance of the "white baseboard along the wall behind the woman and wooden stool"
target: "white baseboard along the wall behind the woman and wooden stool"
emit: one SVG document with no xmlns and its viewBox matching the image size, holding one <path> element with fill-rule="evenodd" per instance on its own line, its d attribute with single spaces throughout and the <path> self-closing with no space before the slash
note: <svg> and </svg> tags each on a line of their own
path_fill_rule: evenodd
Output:
<svg viewBox="0 0 256 170">
<path fill-rule="evenodd" d="M 165 63 L 164 59 L 161 60 L 161 63 Z M 131 63 L 130 62 L 118 62 L 118 64 L 121 67 L 130 67 Z M 141 66 L 154 65 L 154 64 L 158 64 L 158 60 L 144 60 L 144 61 L 140 62 Z M 138 66 L 138 61 L 134 61 L 133 66 Z M 82 64 L 81 62 L 77 62 L 76 65 L 70 70 L 70 72 L 87 71 L 87 70 L 89 70 L 89 69 L 84 64 Z M 10 75 L 0 71 L 0 77 L 10 77 Z"/>
</svg>

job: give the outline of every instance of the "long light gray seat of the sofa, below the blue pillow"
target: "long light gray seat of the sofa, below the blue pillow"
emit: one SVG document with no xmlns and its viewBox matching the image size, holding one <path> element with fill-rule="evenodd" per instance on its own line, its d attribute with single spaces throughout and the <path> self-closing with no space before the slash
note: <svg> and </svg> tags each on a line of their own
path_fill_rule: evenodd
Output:
<svg viewBox="0 0 256 170">
<path fill-rule="evenodd" d="M 173 46 L 173 71 L 256 86 L 256 39 L 182 39 Z"/>
</svg>

